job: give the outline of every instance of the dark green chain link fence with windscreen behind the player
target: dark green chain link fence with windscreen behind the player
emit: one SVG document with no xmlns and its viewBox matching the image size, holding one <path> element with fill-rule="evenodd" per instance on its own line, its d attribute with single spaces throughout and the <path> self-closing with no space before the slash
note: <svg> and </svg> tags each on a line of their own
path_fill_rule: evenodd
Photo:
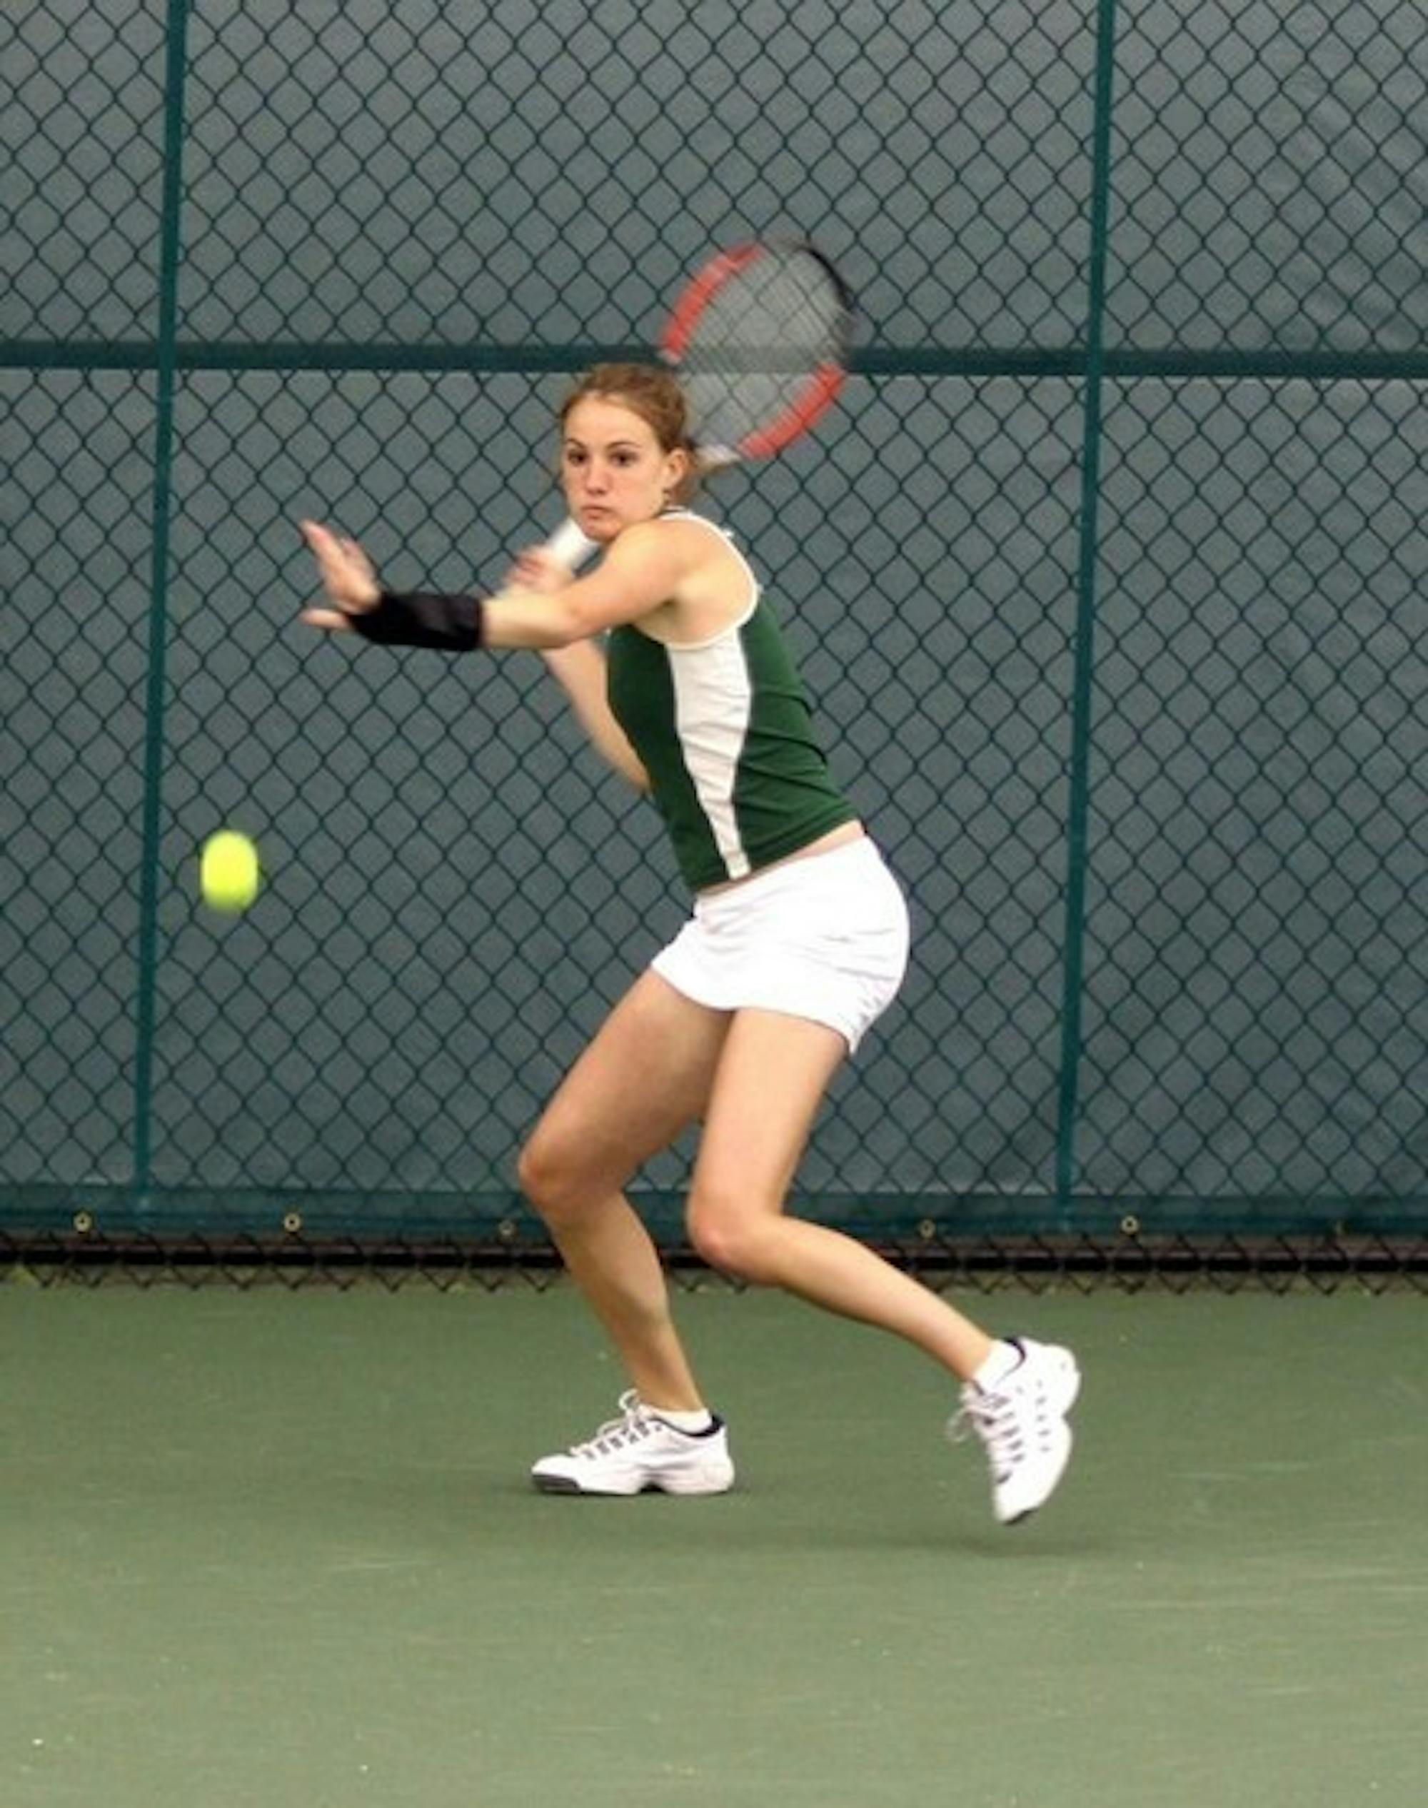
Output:
<svg viewBox="0 0 1428 1808">
<path fill-rule="evenodd" d="M 568 372 L 795 231 L 853 378 L 707 503 L 915 913 L 799 1197 L 1423 1267 L 1419 0 L 13 0 L 0 61 L 0 1255 L 539 1273 L 515 1150 L 683 899 L 533 656 L 316 644 L 295 523 L 497 582 Z"/>
</svg>

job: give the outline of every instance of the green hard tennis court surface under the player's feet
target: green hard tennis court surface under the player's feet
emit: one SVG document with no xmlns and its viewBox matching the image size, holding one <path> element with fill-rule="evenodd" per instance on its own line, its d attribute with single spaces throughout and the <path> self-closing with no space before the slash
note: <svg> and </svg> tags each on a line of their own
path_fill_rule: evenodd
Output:
<svg viewBox="0 0 1428 1808">
<path fill-rule="evenodd" d="M 1428 1795 L 1415 1295 L 974 1300 L 1076 1345 L 1001 1531 L 911 1351 L 680 1302 L 714 1501 L 569 1501 L 566 1289 L 0 1289 L 5 1808 L 1273 1808 Z"/>
</svg>

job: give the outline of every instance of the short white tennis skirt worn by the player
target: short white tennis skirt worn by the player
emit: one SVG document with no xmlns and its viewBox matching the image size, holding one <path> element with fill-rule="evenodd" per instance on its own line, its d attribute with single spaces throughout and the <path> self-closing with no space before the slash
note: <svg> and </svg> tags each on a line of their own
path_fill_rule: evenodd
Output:
<svg viewBox="0 0 1428 1808">
<path fill-rule="evenodd" d="M 851 1054 L 907 971 L 907 900 L 864 835 L 694 900 L 651 965 L 714 1011 L 826 1023 Z"/>
</svg>

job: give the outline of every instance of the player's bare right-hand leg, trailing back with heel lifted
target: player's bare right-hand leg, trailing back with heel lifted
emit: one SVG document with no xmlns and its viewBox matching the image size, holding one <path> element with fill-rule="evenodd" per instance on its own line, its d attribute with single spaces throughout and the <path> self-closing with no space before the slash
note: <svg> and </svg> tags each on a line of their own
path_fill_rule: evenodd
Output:
<svg viewBox="0 0 1428 1808">
<path fill-rule="evenodd" d="M 694 1246 L 716 1267 L 907 1338 L 960 1380 L 992 1340 L 866 1244 L 783 1215 L 842 1038 L 821 1023 L 739 1011 L 723 1041 L 689 1197 Z"/>
</svg>

